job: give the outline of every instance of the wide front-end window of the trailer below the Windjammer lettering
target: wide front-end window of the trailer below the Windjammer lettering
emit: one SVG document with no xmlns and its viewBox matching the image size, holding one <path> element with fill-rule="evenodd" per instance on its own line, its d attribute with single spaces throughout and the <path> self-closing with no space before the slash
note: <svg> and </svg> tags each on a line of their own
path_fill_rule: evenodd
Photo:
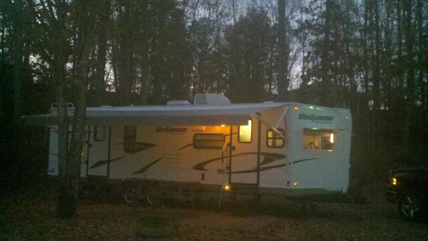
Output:
<svg viewBox="0 0 428 241">
<path fill-rule="evenodd" d="M 336 136 L 333 130 L 303 130 L 303 148 L 309 150 L 329 150 L 335 147 Z"/>
</svg>

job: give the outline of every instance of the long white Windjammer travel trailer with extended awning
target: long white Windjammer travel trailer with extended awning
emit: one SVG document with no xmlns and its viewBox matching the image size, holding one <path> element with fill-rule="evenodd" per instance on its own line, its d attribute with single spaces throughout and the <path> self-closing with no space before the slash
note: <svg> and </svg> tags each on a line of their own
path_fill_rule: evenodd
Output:
<svg viewBox="0 0 428 241">
<path fill-rule="evenodd" d="M 230 103 L 214 93 L 193 102 L 87 108 L 81 177 L 275 195 L 347 192 L 349 110 Z M 50 126 L 48 174 L 58 175 L 56 106 L 24 123 Z"/>
</svg>

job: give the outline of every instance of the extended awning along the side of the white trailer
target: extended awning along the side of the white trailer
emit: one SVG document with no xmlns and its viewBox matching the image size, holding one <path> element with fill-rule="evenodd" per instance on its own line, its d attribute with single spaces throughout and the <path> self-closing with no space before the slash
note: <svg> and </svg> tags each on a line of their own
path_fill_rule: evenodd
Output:
<svg viewBox="0 0 428 241">
<path fill-rule="evenodd" d="M 256 113 L 283 106 L 284 103 L 90 107 L 86 111 L 86 125 L 246 125 Z M 73 113 L 69 113 L 72 123 Z M 22 118 L 24 125 L 58 125 L 55 111 Z"/>
</svg>

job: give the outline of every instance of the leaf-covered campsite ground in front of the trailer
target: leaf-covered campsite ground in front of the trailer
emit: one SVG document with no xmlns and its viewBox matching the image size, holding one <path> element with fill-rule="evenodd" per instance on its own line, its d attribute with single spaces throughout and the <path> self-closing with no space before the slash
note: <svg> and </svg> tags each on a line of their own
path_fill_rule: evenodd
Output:
<svg viewBox="0 0 428 241">
<path fill-rule="evenodd" d="M 427 223 L 399 219 L 382 187 L 365 190 L 370 204 L 298 205 L 263 198 L 258 214 L 190 207 L 126 206 L 118 200 L 83 199 L 79 217 L 55 216 L 54 193 L 22 192 L 0 198 L 0 240 L 427 240 Z M 149 238 L 152 237 L 152 238 Z M 156 237 L 156 238 L 153 238 Z"/>
</svg>

